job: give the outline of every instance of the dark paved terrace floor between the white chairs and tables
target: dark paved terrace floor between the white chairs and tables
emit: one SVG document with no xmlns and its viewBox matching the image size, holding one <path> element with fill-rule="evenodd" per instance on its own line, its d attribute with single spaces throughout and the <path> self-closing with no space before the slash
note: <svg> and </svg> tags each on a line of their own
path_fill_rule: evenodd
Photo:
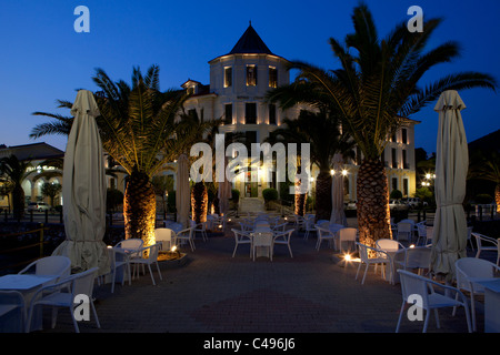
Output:
<svg viewBox="0 0 500 355">
<path fill-rule="evenodd" d="M 132 285 L 96 286 L 96 307 L 101 323 L 80 322 L 81 333 L 393 333 L 401 306 L 400 285 L 383 281 L 372 266 L 364 285 L 354 280 L 358 264 L 344 266 L 332 257 L 323 242 L 293 234 L 290 257 L 287 246 L 276 248 L 273 261 L 249 257 L 240 245 L 231 257 L 234 241 L 231 224 L 224 235 L 209 234 L 188 247 L 188 262 L 176 266 L 160 263 L 163 280 L 153 268 Z M 363 268 L 361 268 L 361 272 Z M 360 275 L 362 276 L 362 273 Z M 483 332 L 483 308 L 478 306 L 478 332 Z M 50 329 L 48 315 L 42 333 L 73 333 L 68 312 L 59 312 Z M 440 311 L 441 328 L 431 316 L 429 333 L 466 333 L 463 311 L 452 317 Z M 403 318 L 401 332 L 420 333 L 422 322 Z"/>
</svg>

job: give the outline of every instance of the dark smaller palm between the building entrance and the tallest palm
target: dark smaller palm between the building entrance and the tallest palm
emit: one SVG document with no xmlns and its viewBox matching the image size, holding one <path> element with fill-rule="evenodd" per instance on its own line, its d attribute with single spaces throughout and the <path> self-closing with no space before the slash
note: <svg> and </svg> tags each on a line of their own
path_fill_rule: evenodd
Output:
<svg viewBox="0 0 500 355">
<path fill-rule="evenodd" d="M 340 153 L 344 159 L 353 158 L 354 142 L 348 134 L 340 132 L 338 116 L 327 112 L 326 109 L 319 112 L 302 110 L 297 120 L 284 119 L 283 125 L 271 132 L 268 141 L 310 144 L 311 163 L 319 169 L 316 182 L 316 219 L 330 220 L 332 207 L 330 170 L 333 166 L 333 155 Z M 298 214 L 303 211 L 304 196 L 296 194 Z"/>
</svg>

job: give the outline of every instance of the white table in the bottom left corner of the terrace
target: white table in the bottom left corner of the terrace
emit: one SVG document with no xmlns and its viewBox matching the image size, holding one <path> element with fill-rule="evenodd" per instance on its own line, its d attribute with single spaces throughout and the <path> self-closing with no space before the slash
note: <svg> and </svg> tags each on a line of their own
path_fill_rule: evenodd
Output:
<svg viewBox="0 0 500 355">
<path fill-rule="evenodd" d="M 59 275 L 34 275 L 34 274 L 10 274 L 0 277 L 0 290 L 18 291 L 24 297 L 23 318 L 27 320 L 27 313 L 30 307 L 31 298 L 34 293 L 42 286 L 53 283 Z M 41 311 L 41 308 L 39 310 Z M 6 332 L 19 332 L 19 324 L 16 320 L 3 327 Z M 24 323 L 24 322 L 23 322 Z M 42 314 L 36 312 L 31 322 L 31 329 L 41 329 Z"/>
</svg>

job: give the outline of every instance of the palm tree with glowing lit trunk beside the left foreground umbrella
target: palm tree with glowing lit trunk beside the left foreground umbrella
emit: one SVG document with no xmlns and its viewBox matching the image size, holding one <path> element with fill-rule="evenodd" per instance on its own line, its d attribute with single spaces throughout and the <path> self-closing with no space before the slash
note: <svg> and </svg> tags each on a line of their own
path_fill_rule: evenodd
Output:
<svg viewBox="0 0 500 355">
<path fill-rule="evenodd" d="M 129 174 L 123 197 L 126 239 L 142 239 L 144 246 L 151 245 L 156 196 L 150 180 L 193 142 L 193 130 L 176 121 L 186 95 L 160 91 L 157 65 L 151 65 L 146 75 L 134 68 L 131 85 L 122 80 L 113 82 L 102 69 L 97 69 L 92 80 L 101 90 L 96 94 L 100 111 L 96 121 L 103 149 Z M 62 108 L 72 106 L 68 101 L 59 103 Z M 67 134 L 70 130 L 72 118 L 34 114 L 51 116 L 57 122 L 37 125 L 31 136 Z M 178 139 L 178 130 L 182 130 L 182 139 Z"/>
</svg>

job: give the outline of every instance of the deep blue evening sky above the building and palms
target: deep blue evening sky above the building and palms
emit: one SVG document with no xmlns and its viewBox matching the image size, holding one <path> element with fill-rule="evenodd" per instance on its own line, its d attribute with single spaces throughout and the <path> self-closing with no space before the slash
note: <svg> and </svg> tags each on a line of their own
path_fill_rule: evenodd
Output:
<svg viewBox="0 0 500 355">
<path fill-rule="evenodd" d="M 441 64 L 423 83 L 458 71 L 483 71 L 500 81 L 500 1 L 367 0 L 381 37 L 408 21 L 410 6 L 424 18 L 442 17 L 431 45 L 461 43 L 462 55 Z M 0 2 L 0 144 L 47 142 L 61 150 L 66 138 L 31 140 L 29 133 L 48 118 L 34 111 L 69 114 L 56 99 L 73 100 L 76 90 L 94 90 L 96 68 L 130 82 L 132 68 L 160 65 L 161 89 L 180 88 L 187 79 L 209 83 L 208 61 L 229 52 L 252 21 L 272 52 L 326 69 L 338 68 L 328 44 L 352 31 L 358 3 L 298 0 L 1 0 Z M 90 10 L 90 33 L 77 33 L 78 6 Z M 468 141 L 500 129 L 498 94 L 486 89 L 460 92 Z M 438 115 L 433 103 L 413 115 L 416 146 L 436 151 Z"/>
</svg>

